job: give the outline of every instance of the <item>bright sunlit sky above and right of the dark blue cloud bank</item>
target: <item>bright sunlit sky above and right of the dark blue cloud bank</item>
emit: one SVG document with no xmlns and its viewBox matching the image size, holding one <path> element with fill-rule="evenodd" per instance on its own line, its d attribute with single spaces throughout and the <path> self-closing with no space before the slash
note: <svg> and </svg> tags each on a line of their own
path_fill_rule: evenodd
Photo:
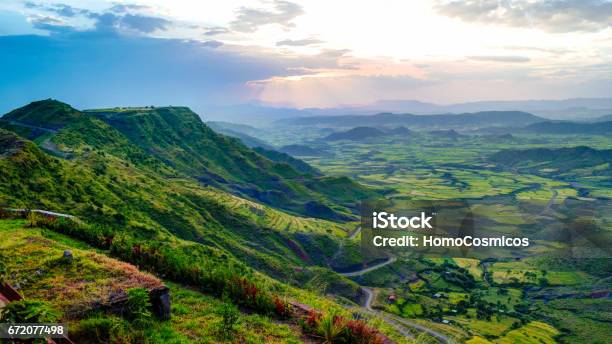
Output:
<svg viewBox="0 0 612 344">
<path fill-rule="evenodd" d="M 282 73 L 246 80 L 240 93 L 255 98 L 243 101 L 310 107 L 600 92 L 589 85 L 612 83 L 611 6 L 597 0 L 8 0 L 0 15 L 7 23 L 21 16 L 29 24 L 21 32 L 55 39 L 178 40 L 196 55 L 208 49 L 266 60 Z M 469 80 L 472 91 L 457 91 L 458 80 Z"/>
</svg>

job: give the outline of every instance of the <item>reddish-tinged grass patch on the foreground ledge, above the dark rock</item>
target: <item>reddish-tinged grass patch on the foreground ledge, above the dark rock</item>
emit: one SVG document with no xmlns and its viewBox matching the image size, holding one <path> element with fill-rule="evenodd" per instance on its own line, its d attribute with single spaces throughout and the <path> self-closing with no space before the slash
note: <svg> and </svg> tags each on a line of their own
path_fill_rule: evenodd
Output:
<svg viewBox="0 0 612 344">
<path fill-rule="evenodd" d="M 57 242 L 46 237 L 46 230 L 24 225 L 23 220 L 0 220 L 0 254 L 11 271 L 9 282 L 19 286 L 23 296 L 48 301 L 68 318 L 93 303 L 107 303 L 129 288 L 161 285 L 133 265 L 84 245 L 77 248 Z M 74 256 L 70 264 L 63 258 L 65 250 Z"/>
</svg>

